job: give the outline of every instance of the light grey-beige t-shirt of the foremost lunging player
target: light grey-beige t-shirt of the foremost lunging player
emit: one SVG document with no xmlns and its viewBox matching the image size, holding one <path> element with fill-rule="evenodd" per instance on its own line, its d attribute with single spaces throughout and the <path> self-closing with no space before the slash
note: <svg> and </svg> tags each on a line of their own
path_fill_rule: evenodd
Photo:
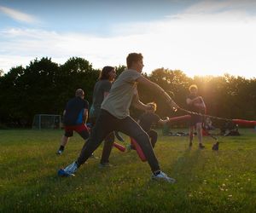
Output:
<svg viewBox="0 0 256 213">
<path fill-rule="evenodd" d="M 129 116 L 129 108 L 133 95 L 137 94 L 137 78 L 141 73 L 135 70 L 125 70 L 112 84 L 109 95 L 102 102 L 102 109 L 107 110 L 116 118 Z"/>
</svg>

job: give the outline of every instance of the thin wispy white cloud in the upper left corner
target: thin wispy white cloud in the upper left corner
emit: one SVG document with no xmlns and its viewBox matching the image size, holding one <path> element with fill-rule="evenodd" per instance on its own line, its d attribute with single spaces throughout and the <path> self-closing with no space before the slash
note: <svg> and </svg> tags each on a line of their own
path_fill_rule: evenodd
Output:
<svg viewBox="0 0 256 213">
<path fill-rule="evenodd" d="M 34 24 L 38 22 L 38 19 L 30 14 L 22 13 L 16 9 L 10 9 L 7 7 L 3 7 L 0 5 L 0 12 L 8 15 L 10 18 L 14 20 L 18 20 L 20 22 L 25 22 L 28 24 Z"/>
</svg>

